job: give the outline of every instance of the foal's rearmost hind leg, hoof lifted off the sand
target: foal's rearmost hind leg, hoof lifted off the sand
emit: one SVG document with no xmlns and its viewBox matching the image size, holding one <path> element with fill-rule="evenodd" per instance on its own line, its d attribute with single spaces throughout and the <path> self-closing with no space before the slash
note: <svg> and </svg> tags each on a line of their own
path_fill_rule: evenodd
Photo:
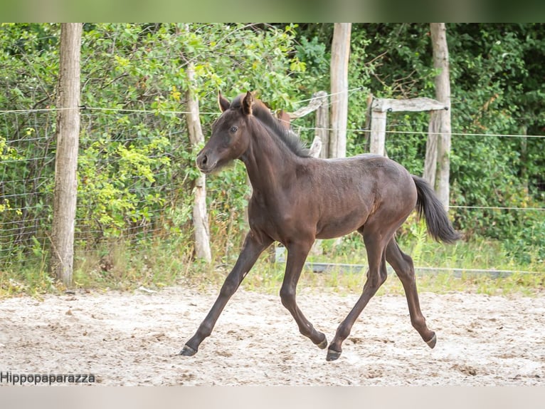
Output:
<svg viewBox="0 0 545 409">
<path fill-rule="evenodd" d="M 418 331 L 425 343 L 427 343 L 430 348 L 433 348 L 437 342 L 437 337 L 435 336 L 435 332 L 428 329 L 422 311 L 420 311 L 413 259 L 403 253 L 396 243 L 396 239 L 392 238 L 386 247 L 386 261 L 392 266 L 393 270 L 396 271 L 397 276 L 401 280 L 401 284 L 403 284 L 409 314 L 411 315 L 411 324 L 416 331 Z"/>
</svg>

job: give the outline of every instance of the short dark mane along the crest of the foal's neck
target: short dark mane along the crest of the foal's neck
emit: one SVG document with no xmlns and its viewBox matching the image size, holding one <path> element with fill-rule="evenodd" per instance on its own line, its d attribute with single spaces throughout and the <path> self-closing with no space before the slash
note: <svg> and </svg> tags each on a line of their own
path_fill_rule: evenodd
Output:
<svg viewBox="0 0 545 409">
<path fill-rule="evenodd" d="M 231 108 L 240 108 L 240 103 L 245 94 L 238 95 L 233 102 Z M 260 100 L 253 100 L 252 114 L 265 127 L 272 130 L 272 133 L 282 141 L 295 155 L 299 157 L 310 157 L 309 149 L 302 144 L 300 138 L 291 130 L 287 130 L 282 126 L 280 120 L 275 118 L 270 113 L 270 109 Z"/>
</svg>

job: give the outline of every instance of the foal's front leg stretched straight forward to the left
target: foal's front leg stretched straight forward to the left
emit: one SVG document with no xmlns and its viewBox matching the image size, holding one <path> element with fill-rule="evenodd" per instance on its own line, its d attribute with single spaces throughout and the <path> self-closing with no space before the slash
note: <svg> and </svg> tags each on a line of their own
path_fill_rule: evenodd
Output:
<svg viewBox="0 0 545 409">
<path fill-rule="evenodd" d="M 180 355 L 193 356 L 197 353 L 201 342 L 212 333 L 221 311 L 223 311 L 231 296 L 235 294 L 238 286 L 240 286 L 240 283 L 253 267 L 263 250 L 269 247 L 271 243 L 272 239 L 259 240 L 251 231 L 246 235 L 243 249 L 238 256 L 235 266 L 223 282 L 216 302 L 213 304 L 206 318 L 201 322 L 195 335 L 186 342 L 184 348 L 179 353 Z"/>
</svg>

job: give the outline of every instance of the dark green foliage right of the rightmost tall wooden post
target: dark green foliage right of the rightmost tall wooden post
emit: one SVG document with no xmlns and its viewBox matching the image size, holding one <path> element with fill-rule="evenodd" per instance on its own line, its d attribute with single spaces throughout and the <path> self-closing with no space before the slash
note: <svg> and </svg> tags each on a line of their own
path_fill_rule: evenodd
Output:
<svg viewBox="0 0 545 409">
<path fill-rule="evenodd" d="M 529 128 L 536 133 L 543 128 L 543 105 L 533 98 L 544 92 L 542 87 L 533 88 L 533 77 L 539 72 L 534 58 L 542 53 L 541 48 L 535 48 L 535 39 L 544 38 L 542 30 L 536 28 L 517 24 L 453 27 L 459 30 L 452 41 L 455 51 L 451 51 L 456 58 L 453 83 L 461 88 L 456 98 L 460 111 L 455 121 L 457 129 L 465 133 L 524 135 Z M 534 40 L 528 42 L 529 37 Z M 529 83 L 532 90 L 527 88 Z M 453 139 L 453 201 L 477 207 L 543 207 L 539 174 L 544 162 L 538 158 L 542 152 L 543 139 Z M 528 155 L 536 161 L 528 161 Z M 541 226 L 544 216 L 543 212 L 499 209 L 460 210 L 455 215 L 460 228 L 468 232 L 505 240 L 509 247 L 513 242 L 524 242 L 528 249 L 539 248 L 544 233 L 522 234 L 524 226 Z M 521 255 L 517 251 L 514 254 Z M 539 254 L 535 257 L 543 259 Z"/>
</svg>

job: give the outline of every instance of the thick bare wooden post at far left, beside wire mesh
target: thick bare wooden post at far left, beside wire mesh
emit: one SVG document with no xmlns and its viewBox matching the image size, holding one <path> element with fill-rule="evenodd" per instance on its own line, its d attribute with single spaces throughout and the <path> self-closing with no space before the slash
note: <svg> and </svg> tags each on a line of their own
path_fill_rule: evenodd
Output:
<svg viewBox="0 0 545 409">
<path fill-rule="evenodd" d="M 57 152 L 51 232 L 51 271 L 67 287 L 73 283 L 76 170 L 80 134 L 80 48 L 83 24 L 60 26 Z"/>
</svg>

